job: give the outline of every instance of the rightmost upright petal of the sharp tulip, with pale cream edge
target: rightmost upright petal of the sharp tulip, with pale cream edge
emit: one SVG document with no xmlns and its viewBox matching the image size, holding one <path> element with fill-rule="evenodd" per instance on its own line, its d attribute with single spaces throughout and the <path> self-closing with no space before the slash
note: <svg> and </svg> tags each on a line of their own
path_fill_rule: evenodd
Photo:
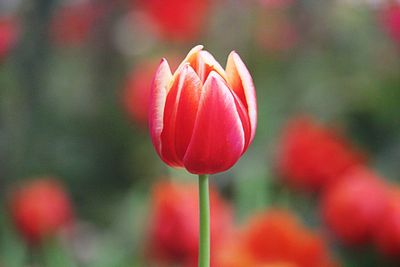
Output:
<svg viewBox="0 0 400 267">
<path fill-rule="evenodd" d="M 257 128 L 256 91 L 249 71 L 247 70 L 242 59 L 234 51 L 232 51 L 228 57 L 228 62 L 226 64 L 226 76 L 229 85 L 238 95 L 243 105 L 247 108 L 251 127 L 251 142 L 254 139 Z"/>
</svg>

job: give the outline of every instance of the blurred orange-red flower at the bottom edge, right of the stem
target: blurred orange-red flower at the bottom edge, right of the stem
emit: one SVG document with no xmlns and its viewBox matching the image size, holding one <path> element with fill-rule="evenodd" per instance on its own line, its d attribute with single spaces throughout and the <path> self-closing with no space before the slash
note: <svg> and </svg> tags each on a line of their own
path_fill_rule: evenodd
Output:
<svg viewBox="0 0 400 267">
<path fill-rule="evenodd" d="M 218 252 L 218 267 L 337 266 L 321 236 L 286 211 L 255 215 L 238 236 Z"/>
</svg>

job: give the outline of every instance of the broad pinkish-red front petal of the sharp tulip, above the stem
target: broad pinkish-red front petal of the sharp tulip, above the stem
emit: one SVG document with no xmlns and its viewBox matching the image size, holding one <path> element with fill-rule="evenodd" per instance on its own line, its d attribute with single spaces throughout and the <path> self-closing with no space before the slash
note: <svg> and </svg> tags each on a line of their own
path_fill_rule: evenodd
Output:
<svg viewBox="0 0 400 267">
<path fill-rule="evenodd" d="M 203 87 L 184 166 L 196 174 L 225 171 L 238 161 L 244 145 L 234 96 L 224 80 L 212 71 Z"/>
</svg>

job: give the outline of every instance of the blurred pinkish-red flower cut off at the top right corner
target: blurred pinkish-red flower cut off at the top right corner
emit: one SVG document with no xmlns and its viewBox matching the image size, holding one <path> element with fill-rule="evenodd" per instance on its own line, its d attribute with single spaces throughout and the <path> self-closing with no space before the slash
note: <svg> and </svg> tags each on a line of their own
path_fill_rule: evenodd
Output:
<svg viewBox="0 0 400 267">
<path fill-rule="evenodd" d="M 385 31 L 400 45 L 400 4 L 389 4 L 381 11 L 380 17 Z"/>
</svg>

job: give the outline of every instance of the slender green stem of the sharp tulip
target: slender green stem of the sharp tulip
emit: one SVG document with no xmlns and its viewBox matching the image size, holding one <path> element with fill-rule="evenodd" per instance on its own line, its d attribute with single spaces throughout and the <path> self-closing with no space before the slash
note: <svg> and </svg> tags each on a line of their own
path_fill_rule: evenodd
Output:
<svg viewBox="0 0 400 267">
<path fill-rule="evenodd" d="M 200 239 L 199 267 L 210 266 L 210 194 L 208 175 L 199 175 Z"/>
</svg>

